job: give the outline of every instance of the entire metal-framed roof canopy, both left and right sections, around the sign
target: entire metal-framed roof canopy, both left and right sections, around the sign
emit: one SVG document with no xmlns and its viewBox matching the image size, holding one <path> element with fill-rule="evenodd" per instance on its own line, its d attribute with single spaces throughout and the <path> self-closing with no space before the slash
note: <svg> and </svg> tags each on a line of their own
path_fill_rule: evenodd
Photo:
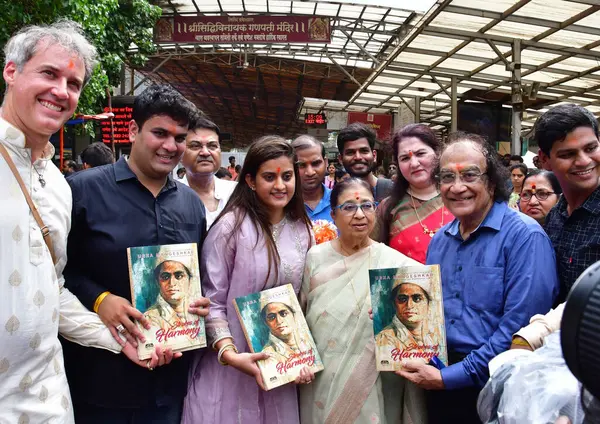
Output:
<svg viewBox="0 0 600 424">
<path fill-rule="evenodd" d="M 253 107 L 267 108 L 265 119 L 273 121 L 261 131 L 291 136 L 300 129 L 303 112 L 397 112 L 402 104 L 414 110 L 415 99 L 422 122 L 448 129 L 453 89 L 458 101 L 505 107 L 518 91 L 525 128 L 562 102 L 600 114 L 600 0 L 161 0 L 160 5 L 165 16 L 331 17 L 330 44 L 159 45 L 142 73 L 180 86 L 198 85 L 192 89 L 197 104 L 202 107 L 200 97 L 212 103 L 215 112 L 225 114 L 218 123 L 238 135 L 244 131 L 227 128 L 228 121 L 257 119 L 248 112 Z M 245 78 L 225 71 L 236 63 L 250 65 Z M 182 64 L 184 70 L 193 65 L 199 71 L 184 76 Z M 217 76 L 203 78 L 207 64 L 220 73 L 213 69 Z M 295 80 L 282 78 L 287 68 L 294 73 L 299 67 Z M 243 104 L 247 92 L 256 91 L 248 84 L 259 81 L 259 87 L 261 73 L 272 76 L 266 86 L 278 87 L 273 93 L 267 87 L 273 101 Z M 310 73 L 319 77 L 304 83 L 303 75 Z M 223 84 L 215 84 L 215 78 Z M 244 81 L 245 87 L 236 87 Z M 337 92 L 322 88 L 342 83 L 344 90 Z M 307 90 L 315 84 L 321 89 Z M 293 101 L 278 101 L 277 91 L 281 99 L 293 96 Z"/>
</svg>

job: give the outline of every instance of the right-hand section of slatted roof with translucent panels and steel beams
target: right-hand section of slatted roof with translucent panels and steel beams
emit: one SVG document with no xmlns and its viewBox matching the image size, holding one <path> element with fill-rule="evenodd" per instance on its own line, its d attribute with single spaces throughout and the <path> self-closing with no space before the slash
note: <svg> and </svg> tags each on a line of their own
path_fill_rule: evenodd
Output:
<svg viewBox="0 0 600 424">
<path fill-rule="evenodd" d="M 452 77 L 461 101 L 510 105 L 515 39 L 524 127 L 563 102 L 600 113 L 597 0 L 439 1 L 343 109 L 393 110 L 418 97 L 422 121 L 448 126 Z"/>
</svg>

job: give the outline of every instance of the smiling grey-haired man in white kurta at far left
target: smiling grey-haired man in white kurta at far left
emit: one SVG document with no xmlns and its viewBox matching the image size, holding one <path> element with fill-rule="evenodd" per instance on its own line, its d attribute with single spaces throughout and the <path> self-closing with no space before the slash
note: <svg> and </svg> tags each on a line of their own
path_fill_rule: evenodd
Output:
<svg viewBox="0 0 600 424">
<path fill-rule="evenodd" d="M 0 157 L 2 424 L 74 422 L 59 332 L 86 346 L 121 351 L 98 316 L 63 288 L 71 190 L 51 162 L 54 148 L 48 139 L 73 114 L 93 69 L 90 57 L 95 50 L 79 31 L 68 22 L 30 27 L 5 47 L 3 77 L 8 89 L 0 109 L 0 143 L 49 227 L 57 263 L 15 176 Z M 131 346 L 126 350 L 133 358 Z"/>
</svg>

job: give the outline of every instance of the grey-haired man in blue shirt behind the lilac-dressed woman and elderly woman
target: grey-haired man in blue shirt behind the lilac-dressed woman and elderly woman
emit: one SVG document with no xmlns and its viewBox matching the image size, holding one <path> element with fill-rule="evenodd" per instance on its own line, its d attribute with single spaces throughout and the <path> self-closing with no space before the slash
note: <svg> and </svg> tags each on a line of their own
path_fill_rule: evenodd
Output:
<svg viewBox="0 0 600 424">
<path fill-rule="evenodd" d="M 323 143 L 310 135 L 301 135 L 292 142 L 292 147 L 298 158 L 306 214 L 313 222 L 317 219 L 333 222 L 329 204 L 331 190 L 323 184 L 328 166 Z"/>
</svg>

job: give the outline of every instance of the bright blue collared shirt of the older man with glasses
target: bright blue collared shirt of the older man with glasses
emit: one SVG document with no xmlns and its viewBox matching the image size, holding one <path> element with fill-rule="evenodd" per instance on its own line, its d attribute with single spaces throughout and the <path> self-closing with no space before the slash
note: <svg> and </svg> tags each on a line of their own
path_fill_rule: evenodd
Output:
<svg viewBox="0 0 600 424">
<path fill-rule="evenodd" d="M 427 264 L 440 264 L 448 351 L 466 355 L 442 369 L 444 385 L 483 387 L 489 361 L 532 316 L 552 307 L 558 293 L 552 243 L 535 220 L 494 202 L 466 241 L 457 219 L 438 231 Z"/>
</svg>

